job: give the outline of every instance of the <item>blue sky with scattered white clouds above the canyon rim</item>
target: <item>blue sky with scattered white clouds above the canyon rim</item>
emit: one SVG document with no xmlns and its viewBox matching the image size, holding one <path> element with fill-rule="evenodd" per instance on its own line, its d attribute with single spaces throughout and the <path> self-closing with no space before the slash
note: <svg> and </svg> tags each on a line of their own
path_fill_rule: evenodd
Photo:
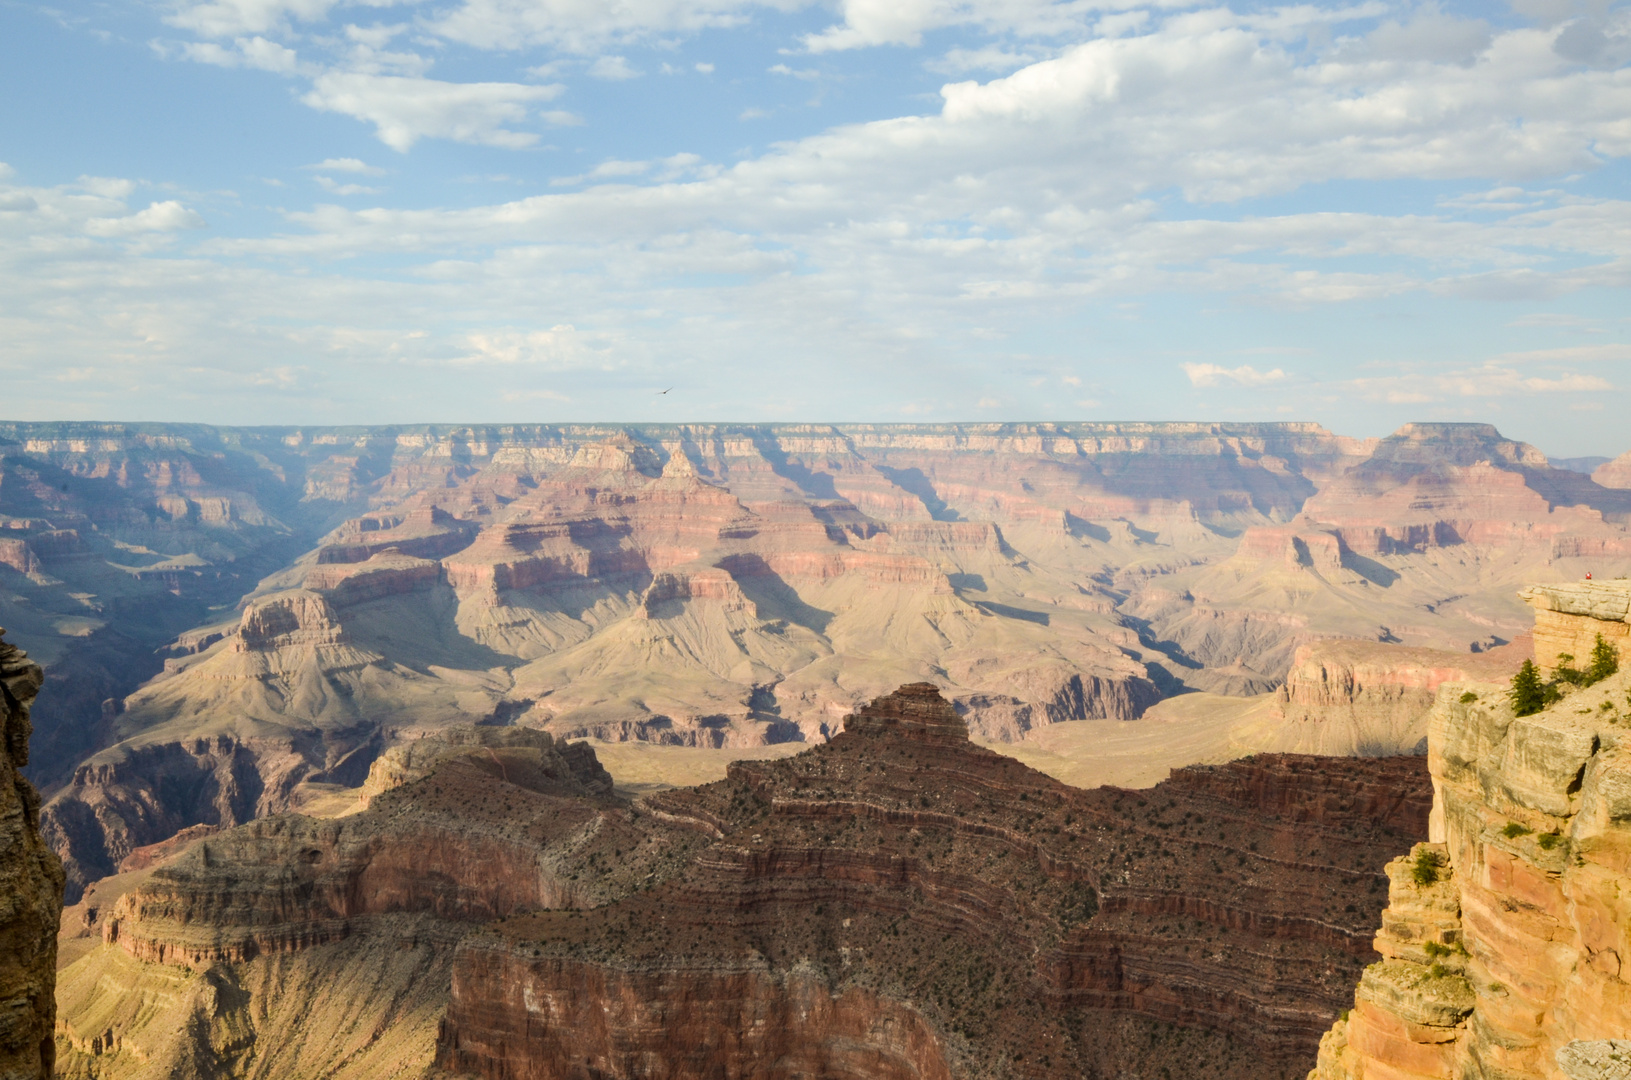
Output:
<svg viewBox="0 0 1631 1080">
<path fill-rule="evenodd" d="M 1628 0 L 0 0 L 0 101 L 5 419 L 1631 449 Z"/>
</svg>

